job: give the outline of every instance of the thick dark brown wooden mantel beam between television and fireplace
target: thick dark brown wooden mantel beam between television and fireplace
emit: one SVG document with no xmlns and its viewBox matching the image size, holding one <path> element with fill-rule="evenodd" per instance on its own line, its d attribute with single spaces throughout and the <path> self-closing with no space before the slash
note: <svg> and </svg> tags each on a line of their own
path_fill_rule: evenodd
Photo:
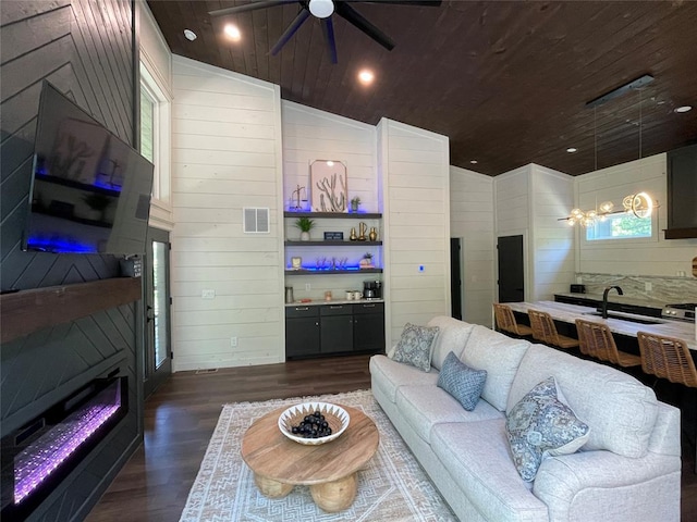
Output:
<svg viewBox="0 0 697 522">
<path fill-rule="evenodd" d="M 140 277 L 114 277 L 0 296 L 0 343 L 137 301 L 140 284 Z"/>
</svg>

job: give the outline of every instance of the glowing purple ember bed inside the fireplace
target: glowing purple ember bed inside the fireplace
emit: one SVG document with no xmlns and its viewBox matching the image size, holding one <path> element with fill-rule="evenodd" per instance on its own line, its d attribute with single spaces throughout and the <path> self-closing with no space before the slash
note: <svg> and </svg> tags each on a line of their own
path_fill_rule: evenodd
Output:
<svg viewBox="0 0 697 522">
<path fill-rule="evenodd" d="M 15 457 L 14 502 L 20 504 L 36 489 L 120 408 L 111 405 L 91 405 L 76 411 L 64 422 L 41 436 Z"/>
</svg>

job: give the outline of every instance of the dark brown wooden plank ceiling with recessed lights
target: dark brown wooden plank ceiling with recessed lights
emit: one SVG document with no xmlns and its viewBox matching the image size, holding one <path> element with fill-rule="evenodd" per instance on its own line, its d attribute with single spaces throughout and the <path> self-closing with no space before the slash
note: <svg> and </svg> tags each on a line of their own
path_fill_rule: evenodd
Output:
<svg viewBox="0 0 697 522">
<path fill-rule="evenodd" d="M 283 99 L 322 111 L 447 135 L 451 164 L 487 175 L 531 162 L 578 175 L 697 141 L 694 1 L 354 1 L 395 47 L 334 13 L 335 65 L 314 16 L 270 55 L 298 3 L 208 15 L 244 3 L 148 0 L 175 54 L 272 82 Z M 241 41 L 223 35 L 228 22 Z M 198 38 L 188 41 L 185 28 Z M 356 80 L 362 67 L 376 74 L 370 87 Z M 655 80 L 641 90 L 585 107 L 644 74 Z M 695 109 L 673 111 L 684 104 Z"/>
</svg>

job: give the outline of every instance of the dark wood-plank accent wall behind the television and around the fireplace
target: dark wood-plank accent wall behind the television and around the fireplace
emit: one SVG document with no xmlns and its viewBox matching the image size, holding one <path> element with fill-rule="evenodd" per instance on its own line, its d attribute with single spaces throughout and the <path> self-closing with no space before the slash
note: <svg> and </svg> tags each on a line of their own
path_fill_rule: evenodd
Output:
<svg viewBox="0 0 697 522">
<path fill-rule="evenodd" d="M 118 275 L 112 256 L 23 252 L 42 79 L 133 142 L 132 5 L 121 0 L 0 2 L 0 284 L 20 289 Z M 142 439 L 138 304 L 94 313 L 0 346 L 2 434 L 119 364 L 130 411 L 32 520 L 81 520 Z M 28 418 L 27 418 L 28 415 Z"/>
</svg>

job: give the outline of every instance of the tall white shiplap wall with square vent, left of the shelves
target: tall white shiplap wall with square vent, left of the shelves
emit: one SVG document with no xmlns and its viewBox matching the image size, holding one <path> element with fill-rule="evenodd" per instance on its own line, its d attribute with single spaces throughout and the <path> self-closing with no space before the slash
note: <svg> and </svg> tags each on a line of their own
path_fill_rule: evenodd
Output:
<svg viewBox="0 0 697 522">
<path fill-rule="evenodd" d="M 283 361 L 279 87 L 174 57 L 173 90 L 174 370 Z M 245 207 L 270 234 L 243 233 Z"/>
</svg>

